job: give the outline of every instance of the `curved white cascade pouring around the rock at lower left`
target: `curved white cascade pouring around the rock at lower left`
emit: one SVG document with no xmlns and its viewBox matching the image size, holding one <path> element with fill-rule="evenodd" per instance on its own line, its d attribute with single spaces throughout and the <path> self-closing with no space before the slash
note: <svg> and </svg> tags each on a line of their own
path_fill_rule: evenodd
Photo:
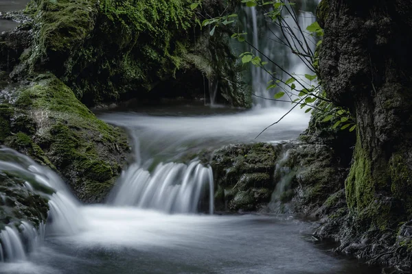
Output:
<svg viewBox="0 0 412 274">
<path fill-rule="evenodd" d="M 28 190 L 38 192 L 49 199 L 47 227 L 40 224 L 38 229 L 30 223 L 21 221 L 19 229 L 13 225 L 4 227 L 0 232 L 0 262 L 24 260 L 27 251 L 40 245 L 47 234 L 72 235 L 80 232 L 84 219 L 76 201 L 62 179 L 52 170 L 41 166 L 29 157 L 5 147 L 0 148 L 0 172 L 13 173 L 25 178 L 24 186 Z M 35 191 L 38 186 L 52 188 L 50 195 Z"/>
</svg>

